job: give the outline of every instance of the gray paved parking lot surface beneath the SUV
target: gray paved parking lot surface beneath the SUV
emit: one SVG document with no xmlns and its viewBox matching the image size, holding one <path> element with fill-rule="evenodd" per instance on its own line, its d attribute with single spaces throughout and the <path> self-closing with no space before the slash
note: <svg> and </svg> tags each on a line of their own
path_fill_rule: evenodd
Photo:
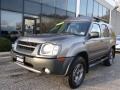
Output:
<svg viewBox="0 0 120 90">
<path fill-rule="evenodd" d="M 0 90 L 70 90 L 67 78 L 39 75 L 0 58 Z M 90 69 L 83 85 L 76 90 L 120 90 L 120 55 L 111 67 L 99 64 Z"/>
</svg>

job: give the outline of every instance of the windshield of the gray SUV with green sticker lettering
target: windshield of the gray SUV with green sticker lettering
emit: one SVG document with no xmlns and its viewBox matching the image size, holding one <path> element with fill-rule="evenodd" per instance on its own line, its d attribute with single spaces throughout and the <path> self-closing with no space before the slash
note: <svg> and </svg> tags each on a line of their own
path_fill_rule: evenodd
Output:
<svg viewBox="0 0 120 90">
<path fill-rule="evenodd" d="M 90 22 L 66 22 L 57 24 L 47 33 L 67 33 L 85 36 L 88 32 Z"/>
</svg>

